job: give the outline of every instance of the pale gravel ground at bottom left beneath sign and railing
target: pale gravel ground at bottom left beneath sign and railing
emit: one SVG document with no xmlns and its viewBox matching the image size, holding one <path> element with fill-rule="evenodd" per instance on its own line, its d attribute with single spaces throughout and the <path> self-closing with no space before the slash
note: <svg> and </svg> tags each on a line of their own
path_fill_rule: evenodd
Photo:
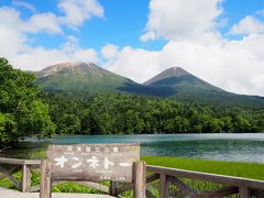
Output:
<svg viewBox="0 0 264 198">
<path fill-rule="evenodd" d="M 38 193 L 21 193 L 11 189 L 0 188 L 0 198 L 38 198 Z M 53 194 L 53 198 L 111 198 L 108 195 L 96 194 Z"/>
</svg>

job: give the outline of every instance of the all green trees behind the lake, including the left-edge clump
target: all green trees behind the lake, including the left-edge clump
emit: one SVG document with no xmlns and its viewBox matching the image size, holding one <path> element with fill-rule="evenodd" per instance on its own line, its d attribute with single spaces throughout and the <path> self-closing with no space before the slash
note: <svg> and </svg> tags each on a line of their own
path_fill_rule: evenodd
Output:
<svg viewBox="0 0 264 198">
<path fill-rule="evenodd" d="M 35 135 L 264 131 L 264 107 L 226 107 L 121 94 L 89 98 L 41 91 L 33 74 L 0 58 L 0 145 Z"/>
</svg>

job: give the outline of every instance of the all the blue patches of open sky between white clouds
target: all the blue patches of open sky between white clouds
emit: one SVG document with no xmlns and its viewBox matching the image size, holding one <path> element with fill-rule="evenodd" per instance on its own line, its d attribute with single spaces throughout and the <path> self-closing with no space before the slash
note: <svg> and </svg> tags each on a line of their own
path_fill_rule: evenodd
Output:
<svg viewBox="0 0 264 198">
<path fill-rule="evenodd" d="M 29 19 L 34 12 L 22 6 L 15 6 L 18 1 L 0 0 L 1 4 L 14 7 L 21 11 L 23 19 Z M 23 2 L 32 4 L 35 8 L 35 12 L 54 12 L 62 14 L 57 9 L 56 0 L 29 0 Z M 142 42 L 139 40 L 147 22 L 150 0 L 99 0 L 98 2 L 100 2 L 105 9 L 103 18 L 88 20 L 79 30 L 65 28 L 63 36 L 45 33 L 32 34 L 31 37 L 34 40 L 32 45 L 54 48 L 65 42 L 65 35 L 75 35 L 80 41 L 79 44 L 81 47 L 94 47 L 96 50 L 100 50 L 106 43 L 113 43 L 121 47 L 131 45 L 146 50 L 161 50 L 166 43 L 163 38 L 154 42 Z M 264 1 L 226 0 L 221 7 L 224 9 L 221 18 L 227 19 L 227 25 L 220 28 L 223 35 L 228 33 L 233 24 L 238 23 L 245 15 L 250 14 L 264 19 L 264 15 L 256 14 L 261 8 L 264 9 Z M 231 35 L 226 36 L 233 37 Z"/>
</svg>

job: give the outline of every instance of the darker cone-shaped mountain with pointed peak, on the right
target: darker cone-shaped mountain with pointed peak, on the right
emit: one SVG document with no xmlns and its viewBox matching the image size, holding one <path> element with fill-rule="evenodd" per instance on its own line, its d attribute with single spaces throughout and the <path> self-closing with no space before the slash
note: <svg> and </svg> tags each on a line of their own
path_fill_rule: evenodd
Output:
<svg viewBox="0 0 264 198">
<path fill-rule="evenodd" d="M 172 67 L 145 81 L 152 88 L 169 88 L 173 96 L 183 100 L 217 103 L 223 106 L 264 105 L 264 98 L 257 96 L 237 95 L 220 89 L 186 72 L 182 67 Z"/>
</svg>

